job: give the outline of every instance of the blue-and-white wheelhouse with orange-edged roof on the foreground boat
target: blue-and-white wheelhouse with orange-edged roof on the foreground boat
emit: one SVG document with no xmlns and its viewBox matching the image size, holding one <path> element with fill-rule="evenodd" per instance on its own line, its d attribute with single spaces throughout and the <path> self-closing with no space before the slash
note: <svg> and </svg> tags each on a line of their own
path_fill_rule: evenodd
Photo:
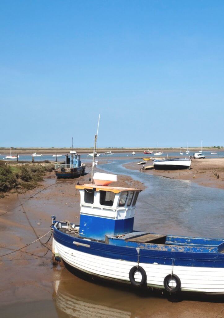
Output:
<svg viewBox="0 0 224 318">
<path fill-rule="evenodd" d="M 135 206 L 140 189 L 76 185 L 80 191 L 80 229 L 85 238 L 105 241 L 105 235 L 133 231 Z"/>
</svg>

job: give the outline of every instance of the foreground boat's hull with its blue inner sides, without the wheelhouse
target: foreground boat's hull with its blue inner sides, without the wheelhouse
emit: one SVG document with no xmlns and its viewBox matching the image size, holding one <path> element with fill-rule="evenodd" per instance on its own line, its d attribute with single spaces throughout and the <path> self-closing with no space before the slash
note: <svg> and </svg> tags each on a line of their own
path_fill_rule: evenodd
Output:
<svg viewBox="0 0 224 318">
<path fill-rule="evenodd" d="M 133 285 L 130 273 L 139 268 L 145 273 L 141 286 L 168 290 L 166 279 L 176 276 L 180 280 L 178 291 L 224 294 L 223 240 L 165 236 L 165 243 L 139 243 L 131 241 L 129 235 L 135 239 L 156 234 L 134 231 L 106 236 L 100 242 L 67 231 L 65 225 L 54 226 L 53 254 L 75 270 Z M 140 281 L 142 277 L 141 273 Z"/>
</svg>

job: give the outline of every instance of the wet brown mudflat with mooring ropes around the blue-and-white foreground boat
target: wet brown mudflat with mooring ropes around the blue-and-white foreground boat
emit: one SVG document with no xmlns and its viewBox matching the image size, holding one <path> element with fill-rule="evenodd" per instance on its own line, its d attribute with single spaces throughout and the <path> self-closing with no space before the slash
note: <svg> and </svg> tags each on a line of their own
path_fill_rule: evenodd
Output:
<svg viewBox="0 0 224 318">
<path fill-rule="evenodd" d="M 89 175 L 83 176 L 80 183 L 88 180 Z M 39 236 L 49 231 L 52 214 L 57 219 L 77 220 L 79 223 L 76 182 L 77 179 L 45 178 L 39 189 L 19 194 L 24 210 L 16 194 L 1 199 L 0 255 L 36 239 L 26 214 Z M 118 176 L 116 185 L 144 187 L 128 176 Z M 48 237 L 49 234 L 42 241 L 46 242 Z M 223 297 L 186 298 L 183 295 L 175 300 L 168 299 L 168 295 L 161 292 L 142 292 L 129 287 L 82 280 L 65 267 L 52 266 L 50 251 L 43 258 L 39 257 L 46 252 L 47 249 L 36 242 L 22 251 L 1 258 L 1 317 L 224 317 Z"/>
</svg>

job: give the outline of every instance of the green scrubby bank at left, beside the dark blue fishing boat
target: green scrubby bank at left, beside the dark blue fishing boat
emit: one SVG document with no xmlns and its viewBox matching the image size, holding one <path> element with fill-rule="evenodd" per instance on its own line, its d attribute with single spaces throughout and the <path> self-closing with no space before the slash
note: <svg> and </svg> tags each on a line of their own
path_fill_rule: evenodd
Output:
<svg viewBox="0 0 224 318">
<path fill-rule="evenodd" d="M 54 170 L 53 164 L 9 164 L 0 161 L 0 197 L 18 189 L 20 192 L 36 188 L 46 173 Z"/>
</svg>

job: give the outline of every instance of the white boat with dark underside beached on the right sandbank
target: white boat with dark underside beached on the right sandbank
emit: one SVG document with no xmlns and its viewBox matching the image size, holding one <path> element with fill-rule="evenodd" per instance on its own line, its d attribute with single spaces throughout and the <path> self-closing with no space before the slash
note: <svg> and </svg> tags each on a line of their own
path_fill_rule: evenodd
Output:
<svg viewBox="0 0 224 318">
<path fill-rule="evenodd" d="M 176 170 L 176 169 L 190 169 L 191 160 L 190 159 L 163 159 L 163 160 L 153 160 L 154 169 L 161 170 Z"/>
</svg>

